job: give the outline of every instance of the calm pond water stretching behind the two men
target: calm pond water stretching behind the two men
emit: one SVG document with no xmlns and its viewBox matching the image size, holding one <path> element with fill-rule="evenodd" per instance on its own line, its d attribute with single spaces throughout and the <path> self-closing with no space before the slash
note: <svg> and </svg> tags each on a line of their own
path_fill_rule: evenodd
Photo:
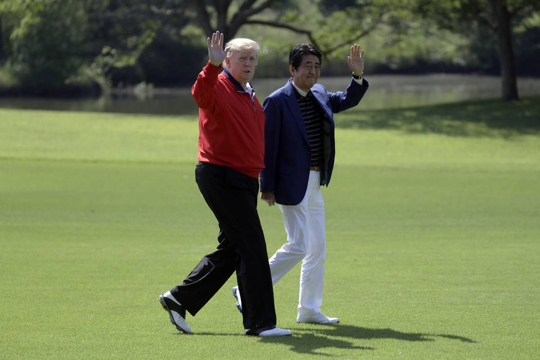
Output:
<svg viewBox="0 0 540 360">
<path fill-rule="evenodd" d="M 366 76 L 369 91 L 360 106 L 365 109 L 454 103 L 501 97 L 501 78 L 465 74 Z M 344 91 L 350 77 L 321 77 L 328 91 Z M 262 101 L 287 78 L 255 79 L 252 85 Z M 519 78 L 519 96 L 540 94 L 540 78 Z M 143 94 L 144 95 L 144 94 Z M 146 114 L 196 114 L 191 87 L 154 89 L 144 96 L 113 95 L 98 99 L 0 98 L 0 107 L 38 110 L 97 111 Z"/>
</svg>

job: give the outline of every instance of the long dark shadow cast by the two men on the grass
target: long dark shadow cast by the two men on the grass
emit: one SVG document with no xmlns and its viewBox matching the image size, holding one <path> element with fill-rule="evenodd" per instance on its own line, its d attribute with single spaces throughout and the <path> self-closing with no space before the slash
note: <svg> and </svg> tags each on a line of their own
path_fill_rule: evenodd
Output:
<svg viewBox="0 0 540 360">
<path fill-rule="evenodd" d="M 373 347 L 355 345 L 349 339 L 396 339 L 410 342 L 435 341 L 436 337 L 458 340 L 466 343 L 476 341 L 463 336 L 448 334 L 422 334 L 420 332 L 401 332 L 392 329 L 368 329 L 351 325 L 310 325 L 291 329 L 293 336 L 287 337 L 263 337 L 262 342 L 280 343 L 291 346 L 291 350 L 300 354 L 330 356 L 322 353 L 321 349 L 357 349 L 375 350 Z"/>
</svg>

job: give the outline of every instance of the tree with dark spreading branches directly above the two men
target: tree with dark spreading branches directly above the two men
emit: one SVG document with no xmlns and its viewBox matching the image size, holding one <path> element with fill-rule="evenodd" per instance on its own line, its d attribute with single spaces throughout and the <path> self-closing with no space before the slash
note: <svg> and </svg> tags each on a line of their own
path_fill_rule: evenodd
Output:
<svg viewBox="0 0 540 360">
<path fill-rule="evenodd" d="M 350 46 L 372 31 L 386 13 L 403 3 L 403 0 L 357 0 L 353 5 L 350 1 L 332 5 L 325 0 L 306 16 L 306 8 L 313 3 L 302 0 L 264 0 L 259 3 L 256 0 L 214 0 L 211 4 L 190 0 L 197 14 L 197 24 L 206 34 L 220 30 L 228 40 L 243 25 L 272 26 L 307 36 L 323 55 Z M 229 17 L 228 13 L 232 12 L 234 15 Z"/>
</svg>

